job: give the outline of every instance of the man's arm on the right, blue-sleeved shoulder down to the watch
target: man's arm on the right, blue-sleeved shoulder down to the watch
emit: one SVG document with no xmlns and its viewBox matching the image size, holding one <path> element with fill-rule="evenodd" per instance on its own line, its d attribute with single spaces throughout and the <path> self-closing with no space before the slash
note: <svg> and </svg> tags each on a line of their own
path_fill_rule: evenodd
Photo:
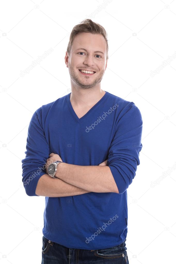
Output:
<svg viewBox="0 0 176 264">
<path fill-rule="evenodd" d="M 60 163 L 56 177 L 91 192 L 122 194 L 132 183 L 142 149 L 142 116 L 130 102 L 120 113 L 108 153 L 108 166 L 80 166 Z"/>
</svg>

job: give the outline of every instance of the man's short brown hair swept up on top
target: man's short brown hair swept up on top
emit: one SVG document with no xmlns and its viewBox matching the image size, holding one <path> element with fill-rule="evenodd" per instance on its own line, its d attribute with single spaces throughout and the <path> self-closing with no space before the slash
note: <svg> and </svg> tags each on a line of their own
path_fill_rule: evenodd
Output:
<svg viewBox="0 0 176 264">
<path fill-rule="evenodd" d="M 91 19 L 84 19 L 78 25 L 73 27 L 72 32 L 70 34 L 70 39 L 69 39 L 69 43 L 67 46 L 67 50 L 66 50 L 68 55 L 70 55 L 70 50 L 71 50 L 73 39 L 74 39 L 75 35 L 80 33 L 80 32 L 90 32 L 92 34 L 103 35 L 104 39 L 106 40 L 106 44 L 107 44 L 107 54 L 106 54 L 106 60 L 107 60 L 108 59 L 107 32 L 104 29 L 104 27 L 102 27 L 98 23 L 93 22 Z"/>
</svg>

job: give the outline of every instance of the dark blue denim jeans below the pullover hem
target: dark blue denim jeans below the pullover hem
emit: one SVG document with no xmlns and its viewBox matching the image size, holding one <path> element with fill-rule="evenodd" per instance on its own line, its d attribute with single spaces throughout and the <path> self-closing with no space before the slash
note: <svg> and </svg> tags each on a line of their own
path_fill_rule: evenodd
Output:
<svg viewBox="0 0 176 264">
<path fill-rule="evenodd" d="M 129 264 L 125 241 L 111 248 L 88 250 L 64 247 L 43 236 L 41 264 Z"/>
</svg>

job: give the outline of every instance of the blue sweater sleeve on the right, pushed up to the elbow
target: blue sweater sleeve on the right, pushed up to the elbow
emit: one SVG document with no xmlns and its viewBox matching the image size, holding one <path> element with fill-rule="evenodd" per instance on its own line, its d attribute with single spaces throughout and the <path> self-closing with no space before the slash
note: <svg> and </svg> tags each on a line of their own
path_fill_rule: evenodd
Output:
<svg viewBox="0 0 176 264">
<path fill-rule="evenodd" d="M 142 116 L 134 102 L 118 116 L 115 134 L 108 153 L 108 166 L 116 182 L 119 194 L 126 191 L 136 175 L 142 149 Z"/>
</svg>

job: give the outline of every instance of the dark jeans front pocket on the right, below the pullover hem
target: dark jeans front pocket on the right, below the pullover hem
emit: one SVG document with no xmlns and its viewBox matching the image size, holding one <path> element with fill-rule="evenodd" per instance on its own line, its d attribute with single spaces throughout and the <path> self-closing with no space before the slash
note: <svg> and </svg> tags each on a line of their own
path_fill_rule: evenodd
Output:
<svg viewBox="0 0 176 264">
<path fill-rule="evenodd" d="M 101 258 L 122 258 L 122 261 L 125 260 L 124 263 L 127 263 L 127 253 L 126 253 L 125 243 L 111 247 L 111 248 L 103 248 L 96 249 L 94 251 L 94 255 Z"/>
</svg>

